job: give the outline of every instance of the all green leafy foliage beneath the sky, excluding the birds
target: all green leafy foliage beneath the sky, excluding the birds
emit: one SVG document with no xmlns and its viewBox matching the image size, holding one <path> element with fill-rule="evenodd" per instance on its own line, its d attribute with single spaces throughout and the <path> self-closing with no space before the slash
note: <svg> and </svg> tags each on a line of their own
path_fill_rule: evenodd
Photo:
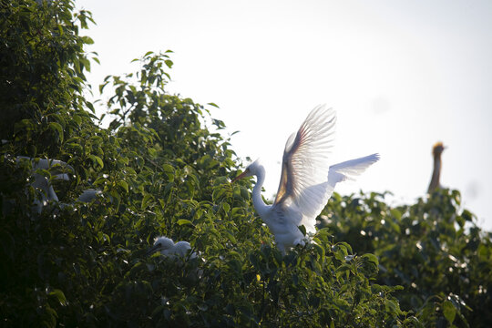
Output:
<svg viewBox="0 0 492 328">
<path fill-rule="evenodd" d="M 4 326 L 487 326 L 490 236 L 456 191 L 395 208 L 335 194 L 326 228 L 282 256 L 251 181 L 229 183 L 241 160 L 214 105 L 166 92 L 169 52 L 107 77 L 113 120 L 101 128 L 82 93 L 90 13 L 69 0 L 1 4 Z M 18 156 L 63 160 L 70 179 Z M 40 212 L 34 173 L 59 199 Z M 78 201 L 87 189 L 102 194 Z M 159 235 L 198 256 L 147 256 Z"/>
</svg>

